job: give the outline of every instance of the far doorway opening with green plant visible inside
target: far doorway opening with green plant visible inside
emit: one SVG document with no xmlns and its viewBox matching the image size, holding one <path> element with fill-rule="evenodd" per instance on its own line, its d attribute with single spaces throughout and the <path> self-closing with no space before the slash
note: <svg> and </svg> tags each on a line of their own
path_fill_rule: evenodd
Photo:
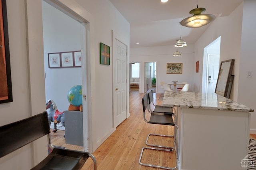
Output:
<svg viewBox="0 0 256 170">
<path fill-rule="evenodd" d="M 148 90 L 156 92 L 156 62 L 145 63 L 144 93 Z"/>
</svg>

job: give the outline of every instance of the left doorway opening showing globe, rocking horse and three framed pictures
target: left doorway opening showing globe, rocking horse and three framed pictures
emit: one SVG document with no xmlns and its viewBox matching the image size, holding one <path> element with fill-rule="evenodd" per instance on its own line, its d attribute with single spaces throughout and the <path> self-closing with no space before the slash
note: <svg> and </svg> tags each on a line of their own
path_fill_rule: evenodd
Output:
<svg viewBox="0 0 256 170">
<path fill-rule="evenodd" d="M 67 95 L 71 87 L 81 85 L 83 95 L 88 91 L 86 87 L 87 73 L 84 71 L 86 70 L 85 55 L 87 54 L 85 19 L 77 18 L 80 16 L 72 16 L 73 14 L 70 14 L 68 10 L 68 8 L 62 9 L 60 4 L 52 2 L 52 0 L 42 0 L 45 95 L 47 101 L 51 99 L 56 103 L 58 111 L 64 112 L 64 123 L 59 123 L 60 126 L 64 126 L 57 127 L 56 132 L 51 132 L 51 136 L 56 137 L 55 140 L 52 140 L 52 144 L 88 152 L 92 150 L 92 147 L 89 146 L 89 140 L 92 139 L 88 137 L 90 125 L 88 124 L 87 101 L 82 98 L 82 111 L 74 109 L 76 116 L 71 115 L 71 119 L 74 121 L 82 120 L 80 123 L 72 123 L 71 119 L 65 119 L 70 117 L 67 114 L 70 105 Z M 54 56 L 59 62 L 56 67 L 49 66 L 51 62 L 49 53 L 55 54 Z M 81 58 L 80 63 L 76 62 L 76 57 Z M 54 143 L 54 141 L 58 142 Z"/>
</svg>

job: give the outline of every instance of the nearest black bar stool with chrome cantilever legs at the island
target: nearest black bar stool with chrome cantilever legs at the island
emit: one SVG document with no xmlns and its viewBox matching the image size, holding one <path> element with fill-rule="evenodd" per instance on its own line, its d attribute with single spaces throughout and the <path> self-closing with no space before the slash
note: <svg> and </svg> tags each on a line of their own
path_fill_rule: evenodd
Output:
<svg viewBox="0 0 256 170">
<path fill-rule="evenodd" d="M 157 147 L 143 147 L 140 153 L 140 158 L 139 158 L 139 164 L 142 166 L 149 166 L 149 167 L 154 167 L 154 168 L 162 168 L 162 169 L 167 169 L 167 170 L 175 170 L 178 167 L 178 136 L 179 136 L 179 128 L 178 126 L 174 123 L 172 116 L 173 114 L 167 114 L 167 113 L 150 113 L 150 120 L 146 119 L 146 110 L 148 107 L 148 95 L 145 94 L 144 97 L 142 98 L 142 108 L 143 108 L 143 118 L 146 123 L 150 124 L 157 124 L 157 125 L 169 125 L 174 127 L 174 147 L 164 147 L 164 146 L 157 146 Z M 168 135 L 162 135 L 164 137 L 170 137 Z M 167 167 L 167 166 L 159 166 L 155 164 L 146 164 L 142 163 L 142 155 L 144 150 L 159 150 L 164 151 L 164 152 L 173 152 L 175 150 L 175 155 L 176 155 L 176 166 L 174 167 Z M 148 152 L 147 152 L 148 153 Z M 154 158 L 153 158 L 154 159 Z"/>
</svg>

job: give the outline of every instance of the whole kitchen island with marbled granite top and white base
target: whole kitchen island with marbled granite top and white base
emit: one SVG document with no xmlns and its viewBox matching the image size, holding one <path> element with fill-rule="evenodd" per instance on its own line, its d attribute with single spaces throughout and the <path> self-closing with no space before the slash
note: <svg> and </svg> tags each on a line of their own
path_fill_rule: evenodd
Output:
<svg viewBox="0 0 256 170">
<path fill-rule="evenodd" d="M 172 91 L 162 105 L 176 108 L 180 170 L 242 169 L 253 109 L 216 93 Z"/>
</svg>

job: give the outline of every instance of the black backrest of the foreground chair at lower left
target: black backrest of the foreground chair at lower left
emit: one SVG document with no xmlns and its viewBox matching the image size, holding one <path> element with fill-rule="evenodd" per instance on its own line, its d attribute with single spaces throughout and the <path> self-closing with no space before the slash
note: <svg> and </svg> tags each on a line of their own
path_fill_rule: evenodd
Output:
<svg viewBox="0 0 256 170">
<path fill-rule="evenodd" d="M 0 158 L 50 133 L 47 112 L 0 127 Z"/>
</svg>

